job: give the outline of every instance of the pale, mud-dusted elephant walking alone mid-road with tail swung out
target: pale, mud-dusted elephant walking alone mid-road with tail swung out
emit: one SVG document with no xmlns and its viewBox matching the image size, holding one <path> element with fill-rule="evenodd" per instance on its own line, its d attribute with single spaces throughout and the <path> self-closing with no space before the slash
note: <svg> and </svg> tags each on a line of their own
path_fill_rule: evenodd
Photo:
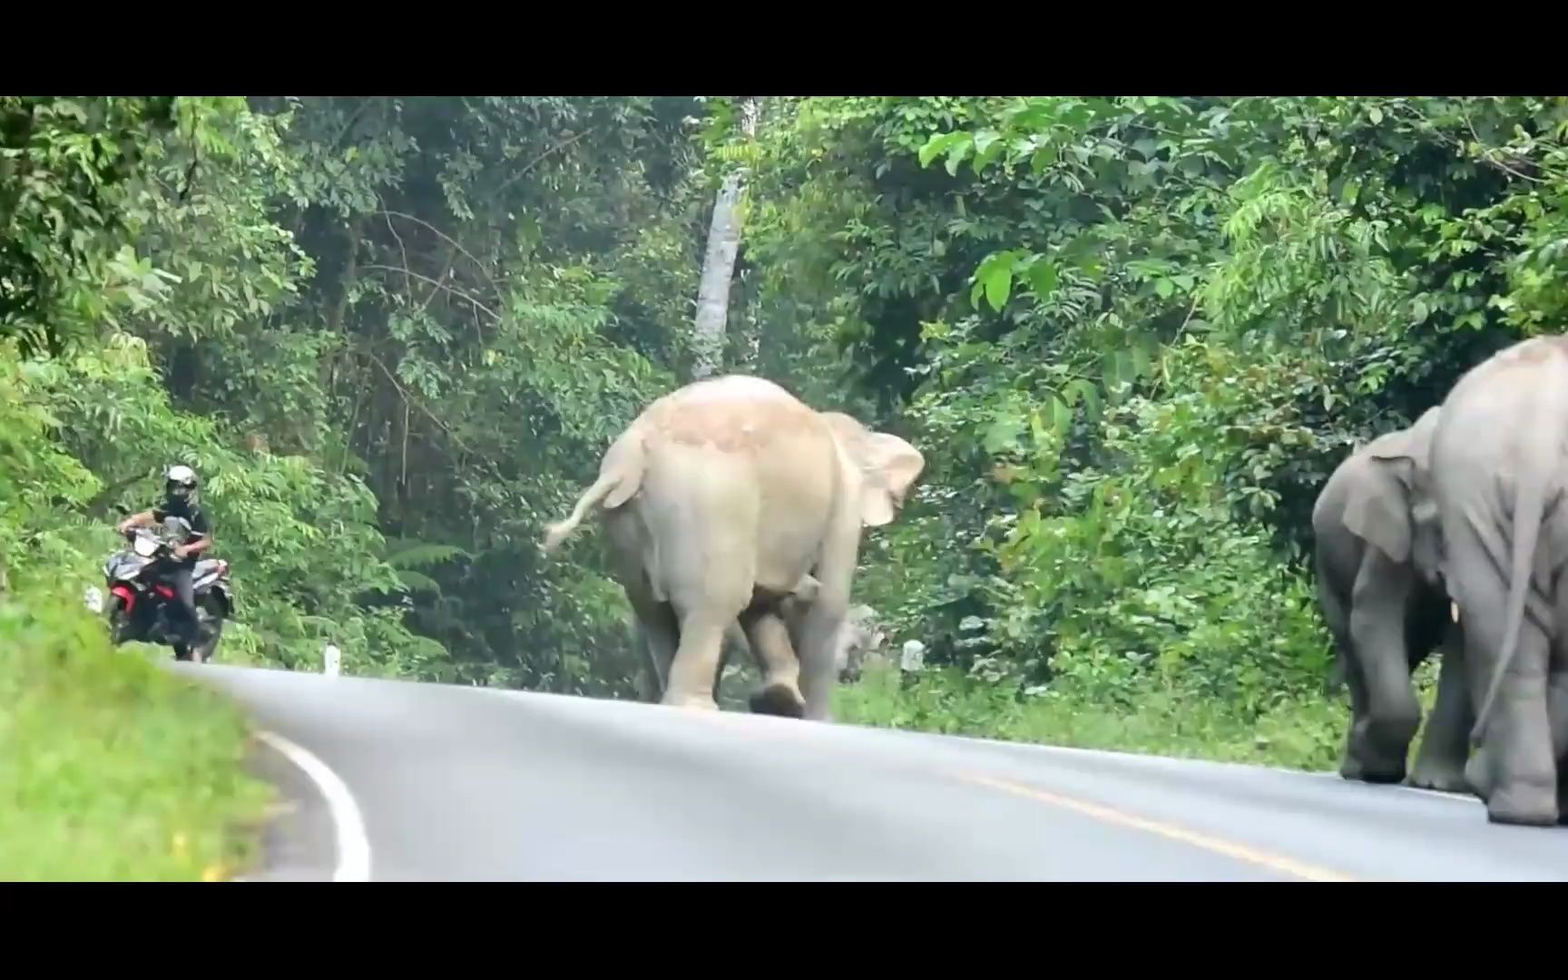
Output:
<svg viewBox="0 0 1568 980">
<path fill-rule="evenodd" d="M 612 574 L 670 663 L 662 704 L 717 710 L 723 635 L 739 619 L 768 665 L 759 701 L 829 721 L 833 638 L 861 530 L 891 522 L 924 469 L 909 442 L 773 381 L 707 378 L 651 403 L 612 442 L 544 550 L 599 511 Z M 792 601 L 808 575 L 815 594 Z"/>
</svg>

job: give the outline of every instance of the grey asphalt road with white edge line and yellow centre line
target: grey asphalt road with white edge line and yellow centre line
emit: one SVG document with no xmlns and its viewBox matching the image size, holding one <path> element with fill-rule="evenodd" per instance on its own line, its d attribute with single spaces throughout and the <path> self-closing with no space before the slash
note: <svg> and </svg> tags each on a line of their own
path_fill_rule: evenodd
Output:
<svg viewBox="0 0 1568 980">
<path fill-rule="evenodd" d="M 1568 828 L 1330 773 L 174 670 L 240 699 L 295 804 L 251 880 L 1568 880 Z"/>
</svg>

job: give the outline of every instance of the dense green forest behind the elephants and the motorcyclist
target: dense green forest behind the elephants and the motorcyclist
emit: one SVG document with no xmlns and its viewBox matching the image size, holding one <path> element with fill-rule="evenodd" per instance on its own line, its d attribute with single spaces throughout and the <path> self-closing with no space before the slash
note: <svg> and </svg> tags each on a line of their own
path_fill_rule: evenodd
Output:
<svg viewBox="0 0 1568 980">
<path fill-rule="evenodd" d="M 1565 205 L 1557 97 L 3 96 L 0 640 L 187 463 L 220 662 L 641 698 L 541 530 L 739 372 L 927 459 L 842 720 L 1333 765 L 1312 502 L 1560 329 Z"/>
</svg>

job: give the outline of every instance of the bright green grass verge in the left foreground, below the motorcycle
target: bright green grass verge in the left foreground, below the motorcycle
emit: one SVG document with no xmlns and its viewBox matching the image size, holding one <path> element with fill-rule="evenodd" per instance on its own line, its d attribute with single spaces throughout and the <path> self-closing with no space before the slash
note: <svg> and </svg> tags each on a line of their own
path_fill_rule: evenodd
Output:
<svg viewBox="0 0 1568 980">
<path fill-rule="evenodd" d="M 111 648 L 80 597 L 0 597 L 0 878 L 229 878 L 271 800 L 248 739 L 220 695 Z"/>
</svg>

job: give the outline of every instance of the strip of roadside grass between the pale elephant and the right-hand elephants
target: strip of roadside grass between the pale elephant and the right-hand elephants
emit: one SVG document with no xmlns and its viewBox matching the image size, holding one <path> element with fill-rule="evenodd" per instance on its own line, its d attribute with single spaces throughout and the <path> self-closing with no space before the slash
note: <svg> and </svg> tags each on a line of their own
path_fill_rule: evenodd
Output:
<svg viewBox="0 0 1568 980">
<path fill-rule="evenodd" d="M 1436 665 L 1416 679 L 1424 732 Z M 1345 695 L 1289 698 L 1247 720 L 1214 699 L 1146 691 L 1118 710 L 1065 691 L 1018 699 L 958 671 L 924 671 L 906 684 L 895 666 L 873 665 L 859 684 L 839 687 L 834 713 L 851 724 L 1325 771 L 1339 767 L 1350 706 Z"/>
</svg>

